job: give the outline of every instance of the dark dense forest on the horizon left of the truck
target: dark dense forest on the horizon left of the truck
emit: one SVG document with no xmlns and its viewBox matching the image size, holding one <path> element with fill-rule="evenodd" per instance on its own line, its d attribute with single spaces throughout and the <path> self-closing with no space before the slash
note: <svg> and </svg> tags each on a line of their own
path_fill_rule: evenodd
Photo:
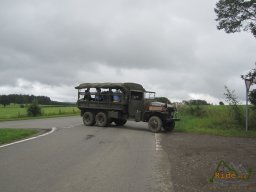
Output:
<svg viewBox="0 0 256 192">
<path fill-rule="evenodd" d="M 69 105 L 69 104 L 71 104 L 71 103 L 52 101 L 49 97 L 46 97 L 46 96 L 18 95 L 18 94 L 0 95 L 0 104 L 2 104 L 4 107 L 11 103 L 29 104 L 29 103 L 32 103 L 33 100 L 37 100 L 37 102 L 40 105 Z"/>
</svg>

